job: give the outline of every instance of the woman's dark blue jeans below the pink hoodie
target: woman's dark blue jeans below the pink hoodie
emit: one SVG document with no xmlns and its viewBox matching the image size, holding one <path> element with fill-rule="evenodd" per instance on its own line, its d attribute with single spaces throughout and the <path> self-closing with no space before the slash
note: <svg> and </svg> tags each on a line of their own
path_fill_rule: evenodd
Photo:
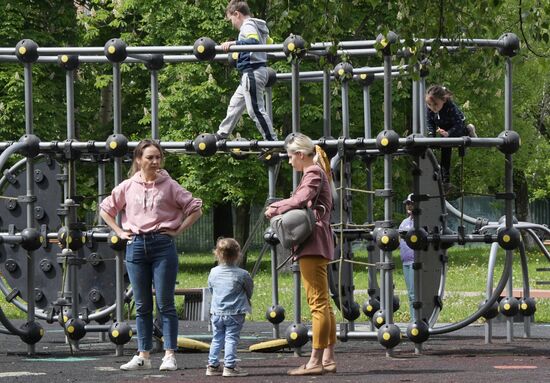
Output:
<svg viewBox="0 0 550 383">
<path fill-rule="evenodd" d="M 126 270 L 136 303 L 138 351 L 153 348 L 153 284 L 162 319 L 164 349 L 178 347 L 178 316 L 174 289 L 178 255 L 172 237 L 152 233 L 135 235 L 126 246 Z"/>
</svg>

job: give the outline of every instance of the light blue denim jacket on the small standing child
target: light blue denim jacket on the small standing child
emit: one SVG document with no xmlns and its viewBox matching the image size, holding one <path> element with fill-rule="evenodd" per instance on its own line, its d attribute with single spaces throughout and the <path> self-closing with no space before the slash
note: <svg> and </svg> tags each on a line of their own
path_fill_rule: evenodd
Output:
<svg viewBox="0 0 550 383">
<path fill-rule="evenodd" d="M 238 266 L 216 266 L 210 270 L 208 288 L 212 293 L 210 314 L 236 315 L 252 312 L 250 298 L 254 282 L 248 271 Z"/>
</svg>

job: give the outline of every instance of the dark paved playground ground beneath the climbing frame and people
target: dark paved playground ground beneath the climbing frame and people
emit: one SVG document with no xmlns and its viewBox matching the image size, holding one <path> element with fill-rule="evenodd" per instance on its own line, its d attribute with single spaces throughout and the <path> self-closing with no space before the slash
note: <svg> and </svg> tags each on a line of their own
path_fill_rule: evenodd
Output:
<svg viewBox="0 0 550 383">
<path fill-rule="evenodd" d="M 208 341 L 204 322 L 180 322 L 180 334 Z M 36 345 L 36 355 L 28 356 L 19 338 L 0 334 L 0 383 L 4 382 L 217 382 L 231 378 L 206 377 L 206 353 L 178 352 L 174 372 L 157 369 L 123 372 L 119 366 L 129 360 L 136 347 L 130 342 L 124 356 L 116 357 L 114 346 L 89 334 L 81 351 L 71 355 L 58 325 L 45 325 L 46 335 Z M 281 328 L 286 328 L 282 326 Z M 359 325 L 358 330 L 368 328 Z M 494 327 L 493 343 L 485 344 L 483 326 L 469 326 L 449 335 L 430 338 L 421 355 L 414 354 L 408 341 L 402 342 L 388 357 L 373 340 L 353 340 L 337 345 L 338 373 L 318 377 L 289 377 L 286 371 L 304 363 L 291 350 L 276 353 L 251 353 L 251 344 L 271 337 L 269 323 L 245 324 L 240 348 L 240 366 L 250 376 L 233 378 L 243 382 L 549 382 L 550 325 L 533 325 L 532 337 L 523 338 L 523 325 L 515 325 L 516 338 L 506 342 L 505 324 Z M 308 343 L 304 349 L 310 346 Z M 162 354 L 153 355 L 158 368 Z"/>
</svg>

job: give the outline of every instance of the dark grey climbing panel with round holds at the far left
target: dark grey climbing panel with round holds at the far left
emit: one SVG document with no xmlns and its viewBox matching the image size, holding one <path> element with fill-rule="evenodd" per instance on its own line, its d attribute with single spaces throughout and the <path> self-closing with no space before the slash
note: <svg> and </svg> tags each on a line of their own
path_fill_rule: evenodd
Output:
<svg viewBox="0 0 550 383">
<path fill-rule="evenodd" d="M 25 195 L 26 179 L 25 167 L 12 169 L 14 183 L 2 178 L 0 193 L 3 196 L 17 197 Z M 47 232 L 57 232 L 61 227 L 61 219 L 57 215 L 63 196 L 62 185 L 57 181 L 57 174 L 61 174 L 61 168 L 56 161 L 48 157 L 35 163 L 35 195 L 36 207 L 40 207 L 37 222 L 47 225 Z M 11 208 L 9 205 L 12 204 Z M 15 232 L 20 232 L 26 227 L 26 214 L 24 206 L 14 200 L 4 199 L 0 201 L 0 229 L 7 231 L 10 225 L 15 225 Z M 63 285 L 63 265 L 58 263 L 57 256 L 61 248 L 54 243 L 48 243 L 46 247 L 33 252 L 35 269 L 35 300 L 37 309 L 50 311 L 52 303 L 59 297 Z M 96 254 L 102 260 L 97 263 L 89 262 L 90 256 Z M 5 279 L 5 290 L 8 292 L 18 289 L 21 298 L 27 302 L 27 251 L 19 245 L 0 244 L 0 272 Z M 78 279 L 78 303 L 79 311 L 87 308 L 90 312 L 111 306 L 115 303 L 115 252 L 105 242 L 88 243 L 78 251 L 78 257 L 85 261 L 77 268 Z M 15 263 L 15 270 L 9 271 L 9 263 Z M 48 263 L 50 269 L 44 271 L 41 263 Z M 128 280 L 125 273 L 125 286 Z"/>
</svg>

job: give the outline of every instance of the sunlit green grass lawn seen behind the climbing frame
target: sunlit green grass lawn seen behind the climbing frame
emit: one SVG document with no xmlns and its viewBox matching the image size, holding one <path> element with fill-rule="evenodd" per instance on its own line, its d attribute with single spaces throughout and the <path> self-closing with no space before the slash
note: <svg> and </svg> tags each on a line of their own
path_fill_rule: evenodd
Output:
<svg viewBox="0 0 550 383">
<path fill-rule="evenodd" d="M 478 304 L 483 300 L 485 284 L 487 279 L 487 262 L 489 259 L 489 246 L 461 248 L 454 247 L 448 251 L 449 267 L 446 280 L 445 299 L 443 301 L 443 310 L 439 316 L 439 322 L 456 322 L 464 319 L 473 313 Z M 248 257 L 247 269 L 251 270 L 258 258 L 258 253 L 251 253 Z M 355 259 L 367 262 L 367 253 L 358 251 Z M 504 254 L 501 252 L 498 256 L 495 281 L 502 273 Z M 399 253 L 395 253 L 394 262 L 396 269 L 394 271 L 395 289 L 401 301 L 401 308 L 395 313 L 396 322 L 409 321 L 408 299 L 406 296 L 405 282 L 401 271 L 401 262 Z M 253 313 L 248 320 L 265 320 L 265 311 L 271 306 L 271 267 L 270 257 L 266 255 L 262 258 L 260 269 L 254 279 L 254 296 L 252 298 Z M 549 267 L 550 264 L 540 252 L 528 254 L 529 274 L 531 288 L 540 288 L 536 286 L 536 281 L 550 280 L 550 272 L 537 272 L 538 267 Z M 184 254 L 180 257 L 180 272 L 178 274 L 178 287 L 205 287 L 210 268 L 214 265 L 214 259 L 211 254 Z M 367 268 L 361 265 L 354 265 L 354 284 L 356 291 L 363 290 L 364 293 L 356 293 L 355 300 L 362 305 L 367 299 Z M 514 254 L 514 287 L 521 287 L 521 271 L 519 268 L 519 253 Z M 544 287 L 544 286 L 543 286 Z M 291 273 L 282 273 L 279 275 L 279 304 L 286 310 L 287 320 L 294 318 L 293 311 L 293 277 Z M 467 294 L 464 294 L 464 293 Z M 476 294 L 477 293 L 477 294 Z M 11 304 L 4 301 L 3 294 L 0 294 L 0 305 L 6 315 L 10 318 L 25 318 L 25 314 Z M 176 297 L 178 312 L 183 312 L 183 297 Z M 181 315 L 180 315 L 181 316 Z M 337 319 L 342 317 L 337 314 Z M 304 293 L 302 293 L 302 311 L 301 318 L 304 322 L 309 322 L 310 314 L 305 302 Z M 364 322 L 367 318 L 362 315 L 358 321 Z M 537 312 L 535 313 L 536 322 L 550 322 L 550 299 L 537 299 Z"/>
</svg>

